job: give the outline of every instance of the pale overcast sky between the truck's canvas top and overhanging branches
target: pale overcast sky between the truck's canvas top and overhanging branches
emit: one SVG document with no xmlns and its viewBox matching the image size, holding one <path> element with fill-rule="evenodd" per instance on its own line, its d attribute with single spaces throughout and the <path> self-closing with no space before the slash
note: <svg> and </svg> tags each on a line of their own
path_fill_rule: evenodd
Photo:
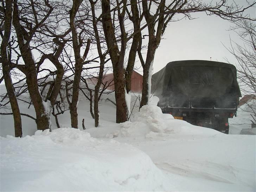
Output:
<svg viewBox="0 0 256 192">
<path fill-rule="evenodd" d="M 236 0 L 236 3 L 247 6 L 245 0 Z M 256 8 L 251 8 L 249 14 L 251 18 L 256 18 Z M 235 32 L 228 31 L 232 23 L 205 13 L 192 16 L 198 19 L 171 22 L 167 27 L 164 39 L 155 53 L 153 73 L 168 62 L 178 60 L 210 60 L 212 57 L 212 61 L 226 62 L 226 57 L 235 65 L 236 60 L 223 46 L 230 47 L 230 37 L 242 43 Z"/>
</svg>

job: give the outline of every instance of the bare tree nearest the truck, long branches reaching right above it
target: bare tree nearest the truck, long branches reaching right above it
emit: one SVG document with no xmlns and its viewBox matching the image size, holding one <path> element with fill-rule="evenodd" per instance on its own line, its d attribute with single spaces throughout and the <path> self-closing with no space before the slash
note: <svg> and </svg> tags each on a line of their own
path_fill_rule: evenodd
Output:
<svg viewBox="0 0 256 192">
<path fill-rule="evenodd" d="M 143 67 L 141 107 L 148 103 L 149 95 L 151 94 L 149 84 L 151 82 L 155 51 L 160 44 L 168 23 L 174 21 L 174 15 L 182 14 L 183 18 L 193 19 L 190 15 L 191 13 L 205 12 L 207 15 L 217 15 L 222 19 L 237 21 L 243 18 L 250 19 L 248 15 L 243 15 L 243 12 L 255 4 L 256 2 L 253 2 L 248 7 L 241 7 L 235 2 L 231 3 L 227 0 L 219 0 L 217 2 L 203 0 L 142 0 L 142 9 L 148 28 L 148 47 L 145 62 L 140 56 Z"/>
</svg>

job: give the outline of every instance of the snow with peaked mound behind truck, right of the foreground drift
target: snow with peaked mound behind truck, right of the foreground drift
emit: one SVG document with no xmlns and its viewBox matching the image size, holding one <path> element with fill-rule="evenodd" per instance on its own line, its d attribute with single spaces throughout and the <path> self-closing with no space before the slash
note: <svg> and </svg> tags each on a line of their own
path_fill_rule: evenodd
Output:
<svg viewBox="0 0 256 192">
<path fill-rule="evenodd" d="M 255 136 L 226 135 L 191 125 L 162 114 L 157 102 L 153 97 L 132 122 L 86 131 L 146 152 L 175 185 L 168 191 L 255 190 Z"/>
</svg>

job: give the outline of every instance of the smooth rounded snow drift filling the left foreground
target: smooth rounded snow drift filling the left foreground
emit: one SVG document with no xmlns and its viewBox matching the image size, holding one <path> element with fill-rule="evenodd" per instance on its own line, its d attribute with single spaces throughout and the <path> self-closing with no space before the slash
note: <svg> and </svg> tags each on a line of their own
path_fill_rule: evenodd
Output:
<svg viewBox="0 0 256 192">
<path fill-rule="evenodd" d="M 79 129 L 0 137 L 1 191 L 153 191 L 170 188 L 152 160 L 132 145 Z M 167 186 L 168 185 L 168 186 Z"/>
</svg>

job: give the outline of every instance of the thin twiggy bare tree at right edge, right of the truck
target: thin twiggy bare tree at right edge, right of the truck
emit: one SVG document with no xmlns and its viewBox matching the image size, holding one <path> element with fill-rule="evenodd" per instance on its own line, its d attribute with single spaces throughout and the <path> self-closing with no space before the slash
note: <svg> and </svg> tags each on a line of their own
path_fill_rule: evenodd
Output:
<svg viewBox="0 0 256 192">
<path fill-rule="evenodd" d="M 238 44 L 230 40 L 229 52 L 237 60 L 237 77 L 241 91 L 251 97 L 256 98 L 256 25 L 250 20 L 240 20 L 233 22 L 232 30 L 243 40 L 243 44 Z M 247 103 L 249 111 L 252 112 L 252 124 L 256 124 L 256 102 Z"/>
</svg>

